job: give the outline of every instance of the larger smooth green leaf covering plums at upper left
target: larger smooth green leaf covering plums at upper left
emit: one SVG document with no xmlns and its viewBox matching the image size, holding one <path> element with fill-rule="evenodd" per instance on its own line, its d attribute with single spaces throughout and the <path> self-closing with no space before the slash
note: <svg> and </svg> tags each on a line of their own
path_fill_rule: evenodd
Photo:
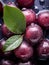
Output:
<svg viewBox="0 0 49 65">
<path fill-rule="evenodd" d="M 4 23 L 7 28 L 15 34 L 22 34 L 26 28 L 25 16 L 17 7 L 4 6 Z"/>
</svg>

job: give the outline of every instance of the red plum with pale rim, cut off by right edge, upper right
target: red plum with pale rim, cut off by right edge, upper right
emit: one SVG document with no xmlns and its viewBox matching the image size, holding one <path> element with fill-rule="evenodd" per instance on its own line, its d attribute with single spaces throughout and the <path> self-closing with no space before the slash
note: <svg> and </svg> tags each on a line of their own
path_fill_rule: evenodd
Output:
<svg viewBox="0 0 49 65">
<path fill-rule="evenodd" d="M 42 27 L 49 29 L 49 11 L 43 10 L 38 14 L 38 23 Z"/>
</svg>

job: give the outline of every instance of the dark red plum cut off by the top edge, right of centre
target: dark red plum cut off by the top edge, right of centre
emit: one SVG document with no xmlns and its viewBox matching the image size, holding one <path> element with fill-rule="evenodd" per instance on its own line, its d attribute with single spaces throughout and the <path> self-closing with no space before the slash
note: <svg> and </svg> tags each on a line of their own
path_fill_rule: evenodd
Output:
<svg viewBox="0 0 49 65">
<path fill-rule="evenodd" d="M 16 0 L 20 7 L 31 7 L 32 5 L 34 5 L 34 1 L 35 0 Z"/>
</svg>

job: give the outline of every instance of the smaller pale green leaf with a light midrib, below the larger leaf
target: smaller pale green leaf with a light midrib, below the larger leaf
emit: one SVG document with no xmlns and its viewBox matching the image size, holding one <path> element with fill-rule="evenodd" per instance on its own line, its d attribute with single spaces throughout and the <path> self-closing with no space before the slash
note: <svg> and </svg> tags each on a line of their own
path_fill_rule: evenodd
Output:
<svg viewBox="0 0 49 65">
<path fill-rule="evenodd" d="M 3 51 L 11 51 L 15 48 L 19 47 L 23 40 L 23 36 L 21 35 L 14 35 L 6 40 L 5 45 L 3 46 Z"/>
</svg>

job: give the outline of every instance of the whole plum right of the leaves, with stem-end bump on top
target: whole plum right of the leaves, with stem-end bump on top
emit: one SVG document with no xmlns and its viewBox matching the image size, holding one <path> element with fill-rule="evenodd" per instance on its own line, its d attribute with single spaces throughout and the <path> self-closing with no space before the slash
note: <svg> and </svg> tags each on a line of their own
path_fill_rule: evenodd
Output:
<svg viewBox="0 0 49 65">
<path fill-rule="evenodd" d="M 40 41 L 42 36 L 43 31 L 39 25 L 32 23 L 26 28 L 25 39 L 32 42 L 32 45 Z"/>
</svg>

